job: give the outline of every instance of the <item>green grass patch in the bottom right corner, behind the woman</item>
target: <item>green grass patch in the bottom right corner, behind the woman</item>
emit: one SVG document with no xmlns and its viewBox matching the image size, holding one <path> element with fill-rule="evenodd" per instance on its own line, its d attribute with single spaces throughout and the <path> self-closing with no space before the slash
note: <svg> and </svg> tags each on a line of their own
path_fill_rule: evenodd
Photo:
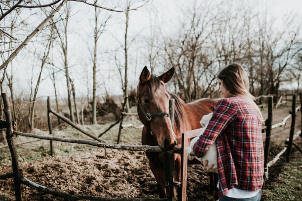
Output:
<svg viewBox="0 0 302 201">
<path fill-rule="evenodd" d="M 298 201 L 302 195 L 302 162 L 285 164 L 273 189 L 264 190 L 262 201 Z"/>
</svg>

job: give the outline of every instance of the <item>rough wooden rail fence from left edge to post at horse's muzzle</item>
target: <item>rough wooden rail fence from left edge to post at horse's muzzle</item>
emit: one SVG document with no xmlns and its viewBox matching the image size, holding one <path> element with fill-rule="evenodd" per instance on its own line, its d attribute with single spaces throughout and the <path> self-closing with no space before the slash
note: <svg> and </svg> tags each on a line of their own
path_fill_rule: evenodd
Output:
<svg viewBox="0 0 302 201">
<path fill-rule="evenodd" d="M 81 131 L 84 134 L 87 134 L 88 136 L 94 138 L 96 141 L 92 140 L 83 140 L 83 139 L 70 139 L 70 138 L 62 138 L 62 137 L 55 137 L 55 136 L 42 136 L 38 134 L 28 134 L 28 133 L 21 133 L 13 131 L 12 129 L 12 118 L 11 118 L 11 112 L 10 112 L 10 104 L 8 101 L 8 98 L 5 93 L 1 94 L 4 104 L 4 113 L 6 118 L 6 124 L 5 124 L 5 130 L 1 129 L 2 131 L 6 132 L 6 140 L 7 145 L 9 147 L 9 151 L 11 153 L 11 161 L 12 161 L 12 173 L 7 173 L 0 175 L 0 179 L 6 179 L 6 178 L 14 178 L 14 189 L 15 189 L 15 198 L 16 201 L 21 201 L 21 184 L 25 184 L 33 189 L 38 190 L 39 192 L 42 192 L 44 194 L 52 194 L 57 197 L 62 197 L 69 200 L 91 200 L 91 201 L 172 201 L 176 200 L 175 191 L 176 185 L 173 181 L 173 173 L 175 171 L 174 167 L 174 153 L 181 153 L 180 148 L 176 148 L 174 151 L 166 151 L 163 152 L 164 155 L 164 169 L 165 169 L 165 177 L 166 177 L 166 188 L 167 188 L 167 198 L 166 199 L 156 199 L 156 198 L 130 198 L 130 199 L 116 199 L 116 198 L 104 198 L 104 197 L 97 197 L 97 196 L 88 196 L 88 195 L 72 195 L 66 192 L 58 191 L 55 189 L 47 188 L 46 186 L 42 186 L 40 184 L 37 184 L 30 179 L 26 178 L 25 176 L 22 176 L 19 170 L 19 164 L 18 164 L 18 154 L 17 149 L 13 140 L 14 135 L 22 135 L 22 136 L 28 136 L 28 137 L 35 137 L 38 139 L 46 139 L 51 141 L 61 141 L 61 142 L 69 142 L 69 143 L 78 143 L 78 144 L 88 144 L 92 146 L 102 147 L 102 148 L 112 148 L 112 149 L 120 149 L 120 150 L 131 150 L 131 151 L 144 151 L 144 152 L 162 152 L 161 149 L 158 146 L 138 146 L 138 145 L 120 145 L 120 144 L 111 144 L 104 142 L 103 140 L 95 137 L 94 135 L 91 136 L 91 134 L 81 130 L 80 128 L 77 128 L 76 125 L 74 125 L 72 122 L 70 122 L 68 119 L 66 119 L 64 116 L 59 115 L 58 113 L 54 112 L 49 107 L 49 99 L 48 99 L 48 120 L 49 120 L 49 113 L 54 114 L 55 116 L 59 117 L 60 119 L 64 120 L 68 124 L 74 126 L 76 129 Z M 170 106 L 169 110 L 174 111 L 174 101 L 170 100 Z M 170 112 L 171 113 L 171 112 Z M 174 115 L 170 115 L 171 118 L 174 118 Z M 50 121 L 48 121 L 50 122 Z M 49 124 L 49 133 L 52 134 L 51 125 Z M 172 163 L 173 162 L 173 163 Z"/>
</svg>

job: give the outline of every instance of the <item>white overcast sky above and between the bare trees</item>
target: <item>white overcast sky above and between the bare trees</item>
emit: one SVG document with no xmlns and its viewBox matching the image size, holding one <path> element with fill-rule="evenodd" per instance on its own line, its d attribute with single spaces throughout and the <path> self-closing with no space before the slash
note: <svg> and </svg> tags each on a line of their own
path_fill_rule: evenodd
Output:
<svg viewBox="0 0 302 201">
<path fill-rule="evenodd" d="M 214 5 L 221 0 L 212 0 L 212 1 L 204 1 L 207 3 L 213 3 Z M 137 11 L 131 11 L 130 19 L 129 19 L 129 30 L 128 37 L 131 40 L 135 35 L 137 36 L 137 40 L 143 41 L 142 38 L 150 36 L 150 26 L 156 23 L 159 25 L 161 29 L 163 29 L 166 33 L 173 32 L 176 26 L 178 25 L 178 18 L 180 13 L 183 12 L 183 8 L 186 7 L 189 3 L 194 2 L 194 0 L 151 0 L 145 6 L 139 8 Z M 230 2 L 227 0 L 223 0 L 223 2 Z M 243 3 L 253 8 L 259 10 L 259 12 L 263 12 L 267 7 L 268 16 L 271 16 L 274 19 L 278 19 L 280 23 L 282 22 L 282 18 L 291 13 L 297 13 L 301 15 L 302 13 L 302 0 L 233 0 L 231 2 Z M 87 77 L 87 72 L 91 73 L 92 71 L 92 62 L 91 57 L 88 52 L 86 41 L 93 38 L 93 21 L 91 21 L 94 17 L 94 8 L 91 6 L 87 6 L 80 2 L 73 2 L 72 13 L 76 13 L 70 19 L 70 38 L 69 38 L 69 65 L 72 77 L 76 82 L 76 90 L 77 96 L 86 96 L 87 84 L 85 83 L 83 77 Z M 136 3 L 136 5 L 140 5 L 142 2 Z M 154 10 L 157 10 L 157 18 L 154 16 Z M 113 13 L 114 17 L 108 26 L 107 33 L 102 36 L 99 42 L 99 51 L 106 52 L 112 51 L 113 47 L 116 47 L 118 42 L 123 43 L 123 35 L 124 35 L 124 21 L 125 14 L 124 13 Z M 302 18 L 301 18 L 302 19 Z M 42 19 L 40 19 L 42 21 Z M 90 25 L 91 24 L 91 25 Z M 114 37 L 112 37 L 114 35 Z M 88 39 L 90 38 L 90 39 Z M 117 39 L 116 39 L 117 38 Z M 141 44 L 140 44 L 141 43 Z M 91 40 L 90 40 L 91 44 Z M 131 46 L 144 47 L 146 43 L 136 41 Z M 130 47 L 131 48 L 131 47 Z M 133 47 L 134 48 L 134 47 Z M 138 82 L 138 76 L 144 66 L 148 66 L 148 62 L 142 58 L 142 55 L 138 55 L 138 59 L 133 59 L 136 57 L 136 53 L 134 49 L 130 49 L 129 52 L 129 65 L 132 67 L 129 70 L 129 84 L 132 86 L 136 86 Z M 111 52 L 112 53 L 112 52 Z M 23 49 L 17 56 L 16 62 L 14 63 L 14 70 L 16 70 L 16 66 L 18 66 L 17 73 L 18 76 L 15 77 L 15 87 L 16 93 L 27 93 L 29 77 L 31 77 L 31 72 L 28 70 L 32 66 L 31 58 L 27 58 L 27 50 Z M 113 53 L 112 53 L 113 54 Z M 132 58 L 132 59 L 130 59 Z M 61 60 L 60 57 L 55 58 L 57 60 Z M 99 83 L 106 83 L 106 86 L 99 86 L 98 95 L 102 97 L 106 90 L 110 95 L 121 94 L 121 84 L 119 81 L 119 76 L 116 74 L 116 71 L 113 72 L 111 69 L 116 68 L 115 62 L 112 58 L 105 56 L 104 58 L 98 58 L 99 64 Z M 27 61 L 26 63 L 24 61 Z M 123 59 L 120 59 L 120 62 L 123 62 Z M 135 66 L 135 67 L 134 67 Z M 19 70 L 20 69 L 20 70 Z M 158 72 L 157 72 L 158 73 Z M 159 72 L 161 73 L 161 72 Z M 45 71 L 44 77 L 47 72 Z M 60 73 L 57 79 L 57 87 L 61 98 L 67 97 L 66 90 L 66 78 L 63 73 Z M 103 75 L 103 77 L 100 77 Z M 110 76 L 110 78 L 108 78 Z M 20 80 L 20 81 L 17 81 Z M 90 90 L 91 90 L 92 77 L 90 82 Z M 29 92 L 28 92 L 29 93 Z M 54 90 L 52 83 L 49 79 L 45 79 L 40 86 L 39 97 L 46 96 L 54 96 Z"/>
</svg>

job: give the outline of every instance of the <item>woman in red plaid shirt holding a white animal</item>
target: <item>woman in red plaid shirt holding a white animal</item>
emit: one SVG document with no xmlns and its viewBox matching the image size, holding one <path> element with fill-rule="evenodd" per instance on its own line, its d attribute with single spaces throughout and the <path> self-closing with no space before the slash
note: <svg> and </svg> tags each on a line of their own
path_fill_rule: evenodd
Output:
<svg viewBox="0 0 302 201">
<path fill-rule="evenodd" d="M 231 64 L 218 75 L 220 93 L 205 132 L 193 147 L 203 156 L 216 142 L 220 201 L 260 201 L 264 179 L 264 150 L 261 112 L 249 93 L 248 76 L 239 64 Z M 204 166 L 209 171 L 216 168 Z"/>
</svg>

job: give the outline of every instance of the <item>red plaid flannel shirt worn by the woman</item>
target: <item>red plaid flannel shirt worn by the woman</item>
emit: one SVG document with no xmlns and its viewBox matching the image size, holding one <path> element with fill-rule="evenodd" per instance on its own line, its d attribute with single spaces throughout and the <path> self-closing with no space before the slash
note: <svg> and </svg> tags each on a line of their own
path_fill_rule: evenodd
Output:
<svg viewBox="0 0 302 201">
<path fill-rule="evenodd" d="M 216 141 L 219 197 L 235 187 L 261 189 L 264 179 L 264 149 L 261 114 L 240 97 L 222 99 L 205 132 L 193 147 L 203 156 Z"/>
</svg>

